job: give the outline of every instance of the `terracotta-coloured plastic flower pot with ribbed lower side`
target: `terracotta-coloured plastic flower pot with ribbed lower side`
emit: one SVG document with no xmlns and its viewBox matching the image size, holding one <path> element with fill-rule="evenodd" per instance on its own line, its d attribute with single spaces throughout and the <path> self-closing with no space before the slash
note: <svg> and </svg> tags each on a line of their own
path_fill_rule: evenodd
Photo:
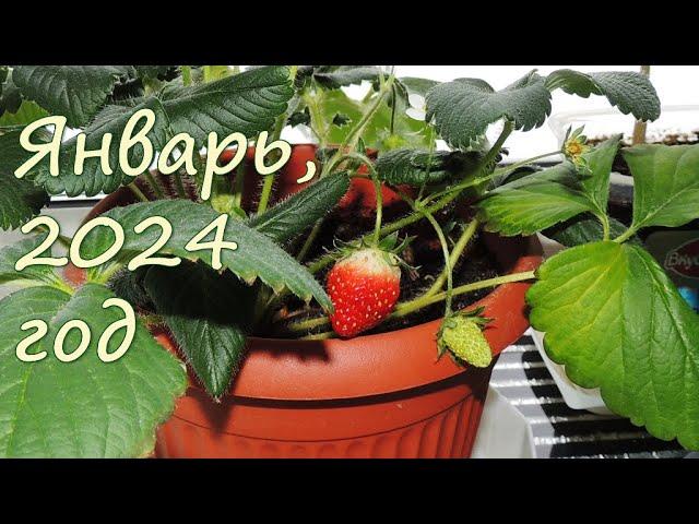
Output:
<svg viewBox="0 0 699 524">
<path fill-rule="evenodd" d="M 130 202 L 128 190 L 117 191 L 91 216 Z M 485 235 L 485 241 L 503 273 L 541 263 L 533 239 Z M 474 303 L 494 319 L 485 336 L 496 356 L 529 325 L 528 288 L 505 284 Z M 439 323 L 347 341 L 251 338 L 221 402 L 190 373 L 186 395 L 158 430 L 156 456 L 467 457 L 493 366 L 438 360 Z M 178 353 L 167 335 L 157 338 Z"/>
</svg>

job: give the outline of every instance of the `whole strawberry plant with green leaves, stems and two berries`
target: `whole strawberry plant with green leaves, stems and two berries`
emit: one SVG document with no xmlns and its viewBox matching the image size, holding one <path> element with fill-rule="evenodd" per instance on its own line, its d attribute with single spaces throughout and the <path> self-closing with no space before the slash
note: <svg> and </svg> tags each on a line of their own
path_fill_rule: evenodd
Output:
<svg viewBox="0 0 699 524">
<path fill-rule="evenodd" d="M 697 314 L 636 237 L 699 217 L 699 148 L 624 151 L 636 179 L 628 228 L 607 215 L 617 138 L 589 147 L 571 130 L 560 151 L 502 163 L 508 138 L 542 126 L 556 90 L 656 119 L 645 76 L 533 71 L 495 91 L 478 79 L 398 79 L 377 67 L 17 66 L 0 68 L 0 226 L 27 235 L 0 250 L 0 283 L 13 286 L 0 301 L 0 455 L 147 454 L 185 391 L 182 362 L 220 400 L 250 336 L 359 336 L 420 322 L 441 305 L 437 352 L 487 366 L 489 319 L 455 305 L 519 281 L 534 282 L 531 322 L 571 380 L 600 388 L 613 410 L 654 436 L 699 449 Z M 362 100 L 342 90 L 360 82 L 371 85 Z M 155 116 L 150 128 L 129 130 L 144 109 Z M 58 127 L 38 127 L 31 142 L 55 143 L 59 154 L 17 178 L 34 158 L 21 138 L 51 116 L 82 138 L 60 143 Z M 486 131 L 497 123 L 490 143 Z M 273 142 L 287 126 L 312 131 L 318 169 L 285 199 L 275 195 L 275 172 L 254 172 L 282 150 L 254 169 L 242 154 L 226 170 L 235 148 L 226 160 L 211 148 L 210 133 Z M 121 142 L 139 130 L 143 141 L 125 152 Z M 174 172 L 150 164 L 132 172 L 145 139 Z M 532 167 L 560 153 L 562 163 Z M 73 239 L 33 221 L 50 195 L 116 191 L 132 203 Z M 457 281 L 479 231 L 526 236 L 554 226 L 569 249 L 538 271 Z M 334 238 L 341 230 L 350 238 Z M 440 257 L 437 270 L 415 260 L 419 242 Z M 64 258 L 61 246 L 70 248 Z M 56 270 L 69 260 L 82 266 L 69 266 L 78 278 Z M 427 271 L 429 285 L 404 294 Z M 181 360 L 155 342 L 157 330 L 171 334 Z"/>
</svg>

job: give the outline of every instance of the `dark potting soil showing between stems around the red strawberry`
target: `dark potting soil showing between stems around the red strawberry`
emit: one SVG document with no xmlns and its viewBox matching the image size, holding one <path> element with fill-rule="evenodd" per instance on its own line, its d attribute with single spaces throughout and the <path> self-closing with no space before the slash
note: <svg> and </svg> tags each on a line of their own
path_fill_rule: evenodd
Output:
<svg viewBox="0 0 699 524">
<path fill-rule="evenodd" d="M 406 210 L 401 206 L 394 206 L 386 210 L 384 223 L 400 217 L 405 212 Z M 445 227 L 445 225 L 448 224 L 449 216 L 449 214 L 438 214 L 436 215 L 436 218 L 440 222 L 442 227 Z M 316 242 L 317 245 L 309 253 L 308 260 L 322 255 L 325 250 L 333 245 L 354 240 L 360 235 L 370 231 L 374 226 L 374 217 L 366 217 L 360 214 L 344 214 L 343 216 L 337 214 L 330 215 L 323 223 L 323 228 L 319 235 L 319 241 Z M 407 228 L 405 233 L 401 231 L 401 239 L 404 234 L 414 236 L 415 239 L 410 243 L 407 249 L 401 253 L 401 258 L 413 267 L 411 270 L 405 267 L 402 269 L 401 301 L 411 300 L 428 289 L 443 269 L 441 246 L 434 229 L 428 223 L 426 223 L 426 221 L 420 221 L 413 225 Z M 303 238 L 299 239 L 299 241 L 303 240 Z M 331 267 L 332 265 L 329 265 L 316 275 L 319 282 L 325 282 L 327 274 Z M 499 271 L 496 261 L 488 252 L 481 236 L 476 234 L 454 267 L 453 287 L 493 278 L 498 274 Z M 485 297 L 490 291 L 491 289 L 482 289 L 454 297 L 453 309 L 459 310 L 465 308 Z M 292 313 L 294 322 L 312 319 L 322 314 L 322 311 L 319 308 L 303 309 L 303 305 L 297 301 L 289 303 L 288 309 L 289 311 L 296 309 L 296 313 Z M 429 322 L 441 318 L 443 309 L 445 302 L 437 302 L 411 315 L 384 322 L 366 334 L 395 331 Z M 289 318 L 289 320 L 292 319 Z M 283 330 L 284 329 L 282 326 L 281 331 L 277 332 L 276 335 L 285 336 Z M 309 334 L 321 333 L 328 330 L 329 326 L 323 325 L 310 331 Z"/>
</svg>

